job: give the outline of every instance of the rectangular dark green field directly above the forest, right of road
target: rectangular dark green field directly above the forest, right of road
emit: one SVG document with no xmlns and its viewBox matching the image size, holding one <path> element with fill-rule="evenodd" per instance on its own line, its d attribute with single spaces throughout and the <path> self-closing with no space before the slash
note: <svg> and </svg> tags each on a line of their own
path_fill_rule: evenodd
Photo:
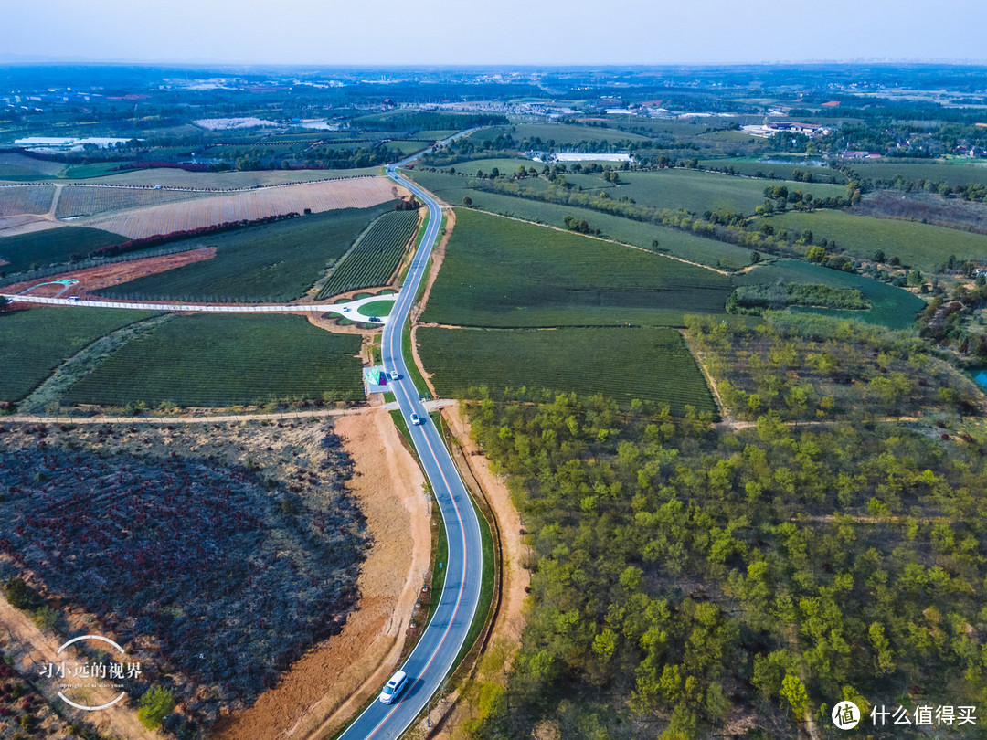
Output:
<svg viewBox="0 0 987 740">
<path fill-rule="evenodd" d="M 457 227 L 458 228 L 458 227 Z M 681 335 L 671 329 L 479 330 L 418 328 L 421 362 L 435 391 L 456 398 L 487 387 L 523 398 L 603 394 L 622 407 L 633 399 L 716 412 L 706 380 Z M 524 391 L 519 389 L 524 388 Z"/>
</svg>

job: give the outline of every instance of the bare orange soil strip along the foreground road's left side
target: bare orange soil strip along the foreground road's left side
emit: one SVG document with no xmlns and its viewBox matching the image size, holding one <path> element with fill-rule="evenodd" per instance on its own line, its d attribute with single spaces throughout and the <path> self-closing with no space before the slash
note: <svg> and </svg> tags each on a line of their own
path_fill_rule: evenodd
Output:
<svg viewBox="0 0 987 740">
<path fill-rule="evenodd" d="M 360 600 L 340 634 L 296 661 L 253 706 L 217 725 L 217 738 L 330 736 L 398 663 L 428 568 L 424 479 L 386 411 L 343 416 L 335 431 L 354 463 L 349 486 L 373 542 L 357 579 Z"/>
</svg>

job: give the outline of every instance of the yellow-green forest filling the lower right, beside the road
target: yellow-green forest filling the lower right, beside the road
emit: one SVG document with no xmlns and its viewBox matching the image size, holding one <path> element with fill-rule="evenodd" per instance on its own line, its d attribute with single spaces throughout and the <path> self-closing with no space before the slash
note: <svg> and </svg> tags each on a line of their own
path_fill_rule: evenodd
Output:
<svg viewBox="0 0 987 740">
<path fill-rule="evenodd" d="M 715 431 L 600 397 L 470 413 L 533 552 L 476 736 L 792 737 L 852 699 L 880 737 L 875 706 L 987 702 L 976 443 L 772 410 Z"/>
</svg>

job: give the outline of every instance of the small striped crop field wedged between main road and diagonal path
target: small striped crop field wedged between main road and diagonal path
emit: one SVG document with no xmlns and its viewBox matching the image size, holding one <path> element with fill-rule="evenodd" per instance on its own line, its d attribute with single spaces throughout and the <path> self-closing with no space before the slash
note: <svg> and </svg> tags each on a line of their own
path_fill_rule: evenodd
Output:
<svg viewBox="0 0 987 740">
<path fill-rule="evenodd" d="M 397 269 L 417 225 L 418 211 L 393 211 L 378 218 L 333 269 L 319 298 L 384 285 Z"/>
</svg>

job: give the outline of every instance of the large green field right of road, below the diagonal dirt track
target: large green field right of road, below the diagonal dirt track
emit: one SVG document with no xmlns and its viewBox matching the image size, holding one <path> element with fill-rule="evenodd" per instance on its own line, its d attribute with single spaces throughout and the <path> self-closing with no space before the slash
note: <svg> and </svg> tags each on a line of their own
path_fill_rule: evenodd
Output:
<svg viewBox="0 0 987 740">
<path fill-rule="evenodd" d="M 456 211 L 423 322 L 474 327 L 682 326 L 721 313 L 729 280 L 673 259 Z"/>
</svg>

